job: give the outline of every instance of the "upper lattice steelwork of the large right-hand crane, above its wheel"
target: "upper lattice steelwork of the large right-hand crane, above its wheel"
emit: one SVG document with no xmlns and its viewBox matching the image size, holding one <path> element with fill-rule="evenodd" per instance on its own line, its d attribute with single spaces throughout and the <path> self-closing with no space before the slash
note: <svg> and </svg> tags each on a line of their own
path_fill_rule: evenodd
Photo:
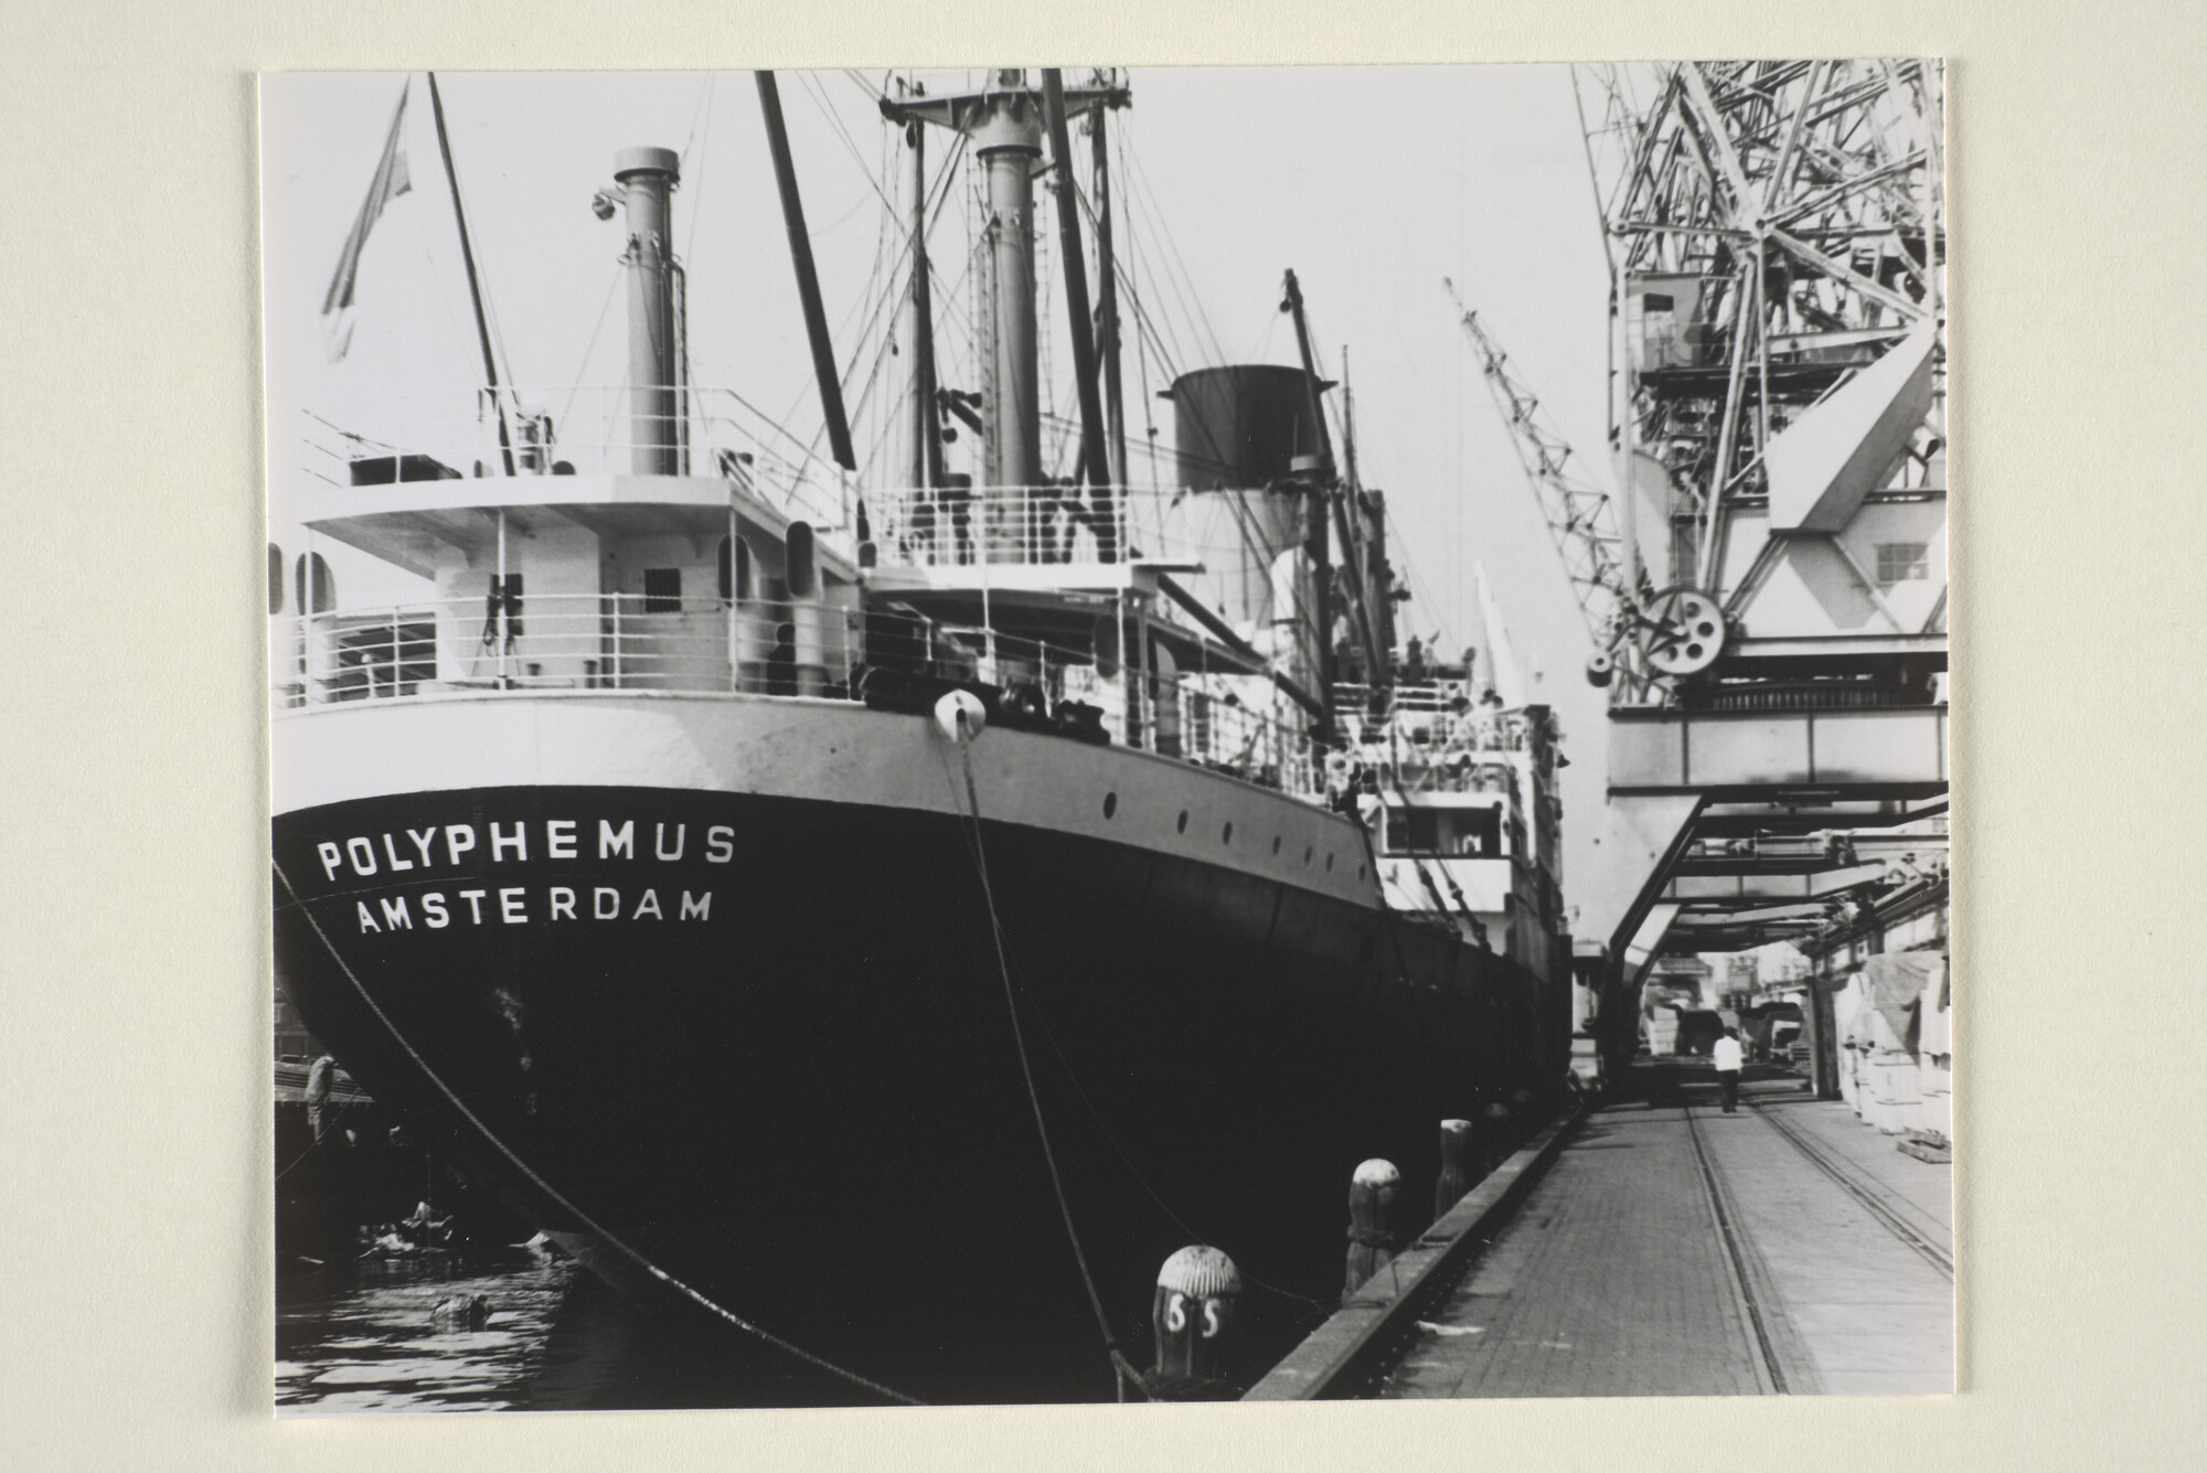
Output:
<svg viewBox="0 0 2207 1473">
<path fill-rule="evenodd" d="M 1790 545 L 1874 492 L 1944 490 L 1938 66 L 1585 71 L 1627 553 L 1737 624 Z M 1889 633 L 1925 631 L 1843 571 Z"/>
</svg>

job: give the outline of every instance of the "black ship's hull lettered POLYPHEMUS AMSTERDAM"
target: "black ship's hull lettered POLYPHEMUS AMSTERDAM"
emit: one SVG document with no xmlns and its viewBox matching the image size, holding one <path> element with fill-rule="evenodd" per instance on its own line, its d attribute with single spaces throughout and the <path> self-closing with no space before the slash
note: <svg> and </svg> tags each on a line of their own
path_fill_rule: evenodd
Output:
<svg viewBox="0 0 2207 1473">
<path fill-rule="evenodd" d="M 547 820 L 574 820 L 578 858 L 547 853 Z M 633 822 L 633 858 L 598 858 L 600 820 Z M 1245 1297 L 1251 1356 L 1284 1347 L 1340 1292 L 1355 1162 L 1395 1160 L 1430 1202 L 1441 1118 L 1560 1080 L 1567 992 L 1452 935 L 1137 845 L 982 834 L 1073 1219 L 1137 1358 L 1156 1266 L 1190 1241 L 1287 1290 Z M 1112 1394 L 958 818 L 505 787 L 282 814 L 274 858 L 309 1028 L 530 1219 L 587 1215 L 925 1400 Z M 867 1400 L 772 1352 L 744 1374 L 731 1400 Z"/>
</svg>

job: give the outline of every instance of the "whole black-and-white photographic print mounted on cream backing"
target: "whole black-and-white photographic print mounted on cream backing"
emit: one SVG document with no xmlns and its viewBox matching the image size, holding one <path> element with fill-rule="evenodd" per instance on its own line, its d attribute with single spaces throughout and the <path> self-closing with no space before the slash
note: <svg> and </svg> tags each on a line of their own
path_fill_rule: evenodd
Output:
<svg viewBox="0 0 2207 1473">
<path fill-rule="evenodd" d="M 1955 1389 L 1938 60 L 258 128 L 278 1416 Z"/>
</svg>

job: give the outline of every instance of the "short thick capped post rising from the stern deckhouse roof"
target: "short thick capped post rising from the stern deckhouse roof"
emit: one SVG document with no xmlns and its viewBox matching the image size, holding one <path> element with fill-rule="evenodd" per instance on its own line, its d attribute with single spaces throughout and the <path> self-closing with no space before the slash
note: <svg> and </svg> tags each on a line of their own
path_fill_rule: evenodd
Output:
<svg viewBox="0 0 2207 1473">
<path fill-rule="evenodd" d="M 629 439 L 638 476 L 682 474 L 682 333 L 675 307 L 673 192 L 682 179 L 682 157 L 671 148 L 622 148 L 614 154 L 616 190 L 603 201 L 627 207 L 629 247 L 620 260 L 629 269 Z"/>
</svg>

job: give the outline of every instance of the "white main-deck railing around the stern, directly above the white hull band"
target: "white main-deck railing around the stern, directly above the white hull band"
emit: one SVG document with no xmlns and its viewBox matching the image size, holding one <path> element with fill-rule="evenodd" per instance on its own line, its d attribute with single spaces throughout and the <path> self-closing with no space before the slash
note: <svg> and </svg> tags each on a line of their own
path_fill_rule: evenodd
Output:
<svg viewBox="0 0 2207 1473">
<path fill-rule="evenodd" d="M 1092 648 L 803 600 L 527 593 L 271 620 L 278 710 L 494 692 L 801 695 L 861 701 L 867 675 L 995 690 L 1009 723 L 1110 734 L 1161 756 L 1313 792 L 1309 734 L 1251 677 L 1128 681 Z M 905 681 L 911 684 L 909 679 Z M 878 690 L 876 681 L 876 690 Z M 1150 688 L 1154 686 L 1154 688 Z"/>
</svg>

